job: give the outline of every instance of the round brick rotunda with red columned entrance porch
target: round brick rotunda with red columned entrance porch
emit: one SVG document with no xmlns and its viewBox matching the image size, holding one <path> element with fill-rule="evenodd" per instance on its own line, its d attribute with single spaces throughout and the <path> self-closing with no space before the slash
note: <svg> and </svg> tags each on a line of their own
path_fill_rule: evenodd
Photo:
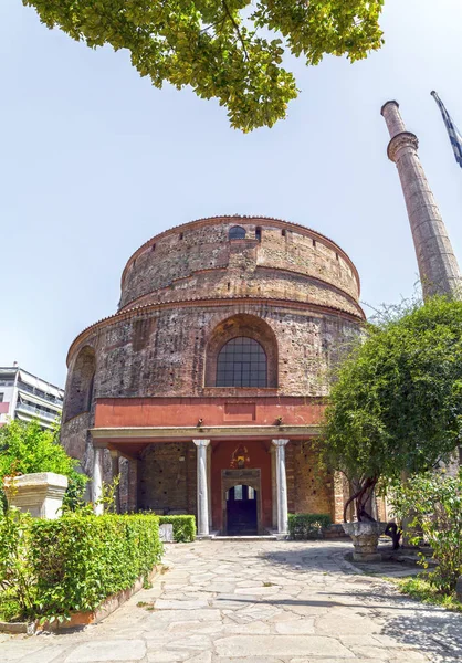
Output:
<svg viewBox="0 0 462 663">
<path fill-rule="evenodd" d="M 342 520 L 314 441 L 327 371 L 365 319 L 348 255 L 253 217 L 167 230 L 128 260 L 119 308 L 67 356 L 62 442 L 120 511 L 195 514 L 200 535 Z M 338 493 L 338 494 L 337 494 Z"/>
</svg>

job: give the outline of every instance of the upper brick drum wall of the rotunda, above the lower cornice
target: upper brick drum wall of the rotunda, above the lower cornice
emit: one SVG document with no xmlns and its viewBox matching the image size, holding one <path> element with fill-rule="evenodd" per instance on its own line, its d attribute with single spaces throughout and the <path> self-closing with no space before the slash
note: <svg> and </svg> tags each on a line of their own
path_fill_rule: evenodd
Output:
<svg viewBox="0 0 462 663">
<path fill-rule="evenodd" d="M 228 239 L 235 224 L 245 228 L 245 240 Z M 306 229 L 282 225 L 261 220 L 260 242 L 254 239 L 255 223 L 239 218 L 212 219 L 162 233 L 128 262 L 120 306 L 265 293 L 328 301 L 332 306 L 358 313 L 358 278 L 342 250 Z"/>
</svg>

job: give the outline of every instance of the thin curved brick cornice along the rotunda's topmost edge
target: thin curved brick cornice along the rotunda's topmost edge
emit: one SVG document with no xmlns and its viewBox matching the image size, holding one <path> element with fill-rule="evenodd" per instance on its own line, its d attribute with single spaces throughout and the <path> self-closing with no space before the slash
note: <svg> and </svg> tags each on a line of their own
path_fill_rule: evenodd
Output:
<svg viewBox="0 0 462 663">
<path fill-rule="evenodd" d="M 125 276 L 128 271 L 128 267 L 130 266 L 133 261 L 138 257 L 138 255 L 140 255 L 141 253 L 144 253 L 144 251 L 146 251 L 146 249 L 148 249 L 149 246 L 151 246 L 153 244 L 155 244 L 162 238 L 165 238 L 169 234 L 175 234 L 180 230 L 187 230 L 190 228 L 203 228 L 204 225 L 217 224 L 220 221 L 222 221 L 224 223 L 229 223 L 230 221 L 232 221 L 232 222 L 235 222 L 237 224 L 239 224 L 240 221 L 248 222 L 248 223 L 251 222 L 252 224 L 255 224 L 255 225 L 259 225 L 259 222 L 264 223 L 265 221 L 269 221 L 275 228 L 285 228 L 287 230 L 293 230 L 294 232 L 298 232 L 300 234 L 306 235 L 313 240 L 319 240 L 326 246 L 329 246 L 333 251 L 339 253 L 342 255 L 342 257 L 345 260 L 345 262 L 348 263 L 348 265 L 351 267 L 351 271 L 358 283 L 358 292 L 360 291 L 360 278 L 359 278 L 358 270 L 355 267 L 355 264 L 353 263 L 349 255 L 347 253 L 345 253 L 345 251 L 338 244 L 336 244 L 334 242 L 334 240 L 330 240 L 326 235 L 323 235 L 321 232 L 317 232 L 316 230 L 312 230 L 311 228 L 307 228 L 300 223 L 293 223 L 292 221 L 284 221 L 283 219 L 276 219 L 274 217 L 252 217 L 252 215 L 248 217 L 248 215 L 241 215 L 241 214 L 235 214 L 235 215 L 223 214 L 221 217 L 206 217 L 203 219 L 196 219 L 195 221 L 181 223 L 180 225 L 174 225 L 172 228 L 169 228 L 168 230 L 165 230 L 164 232 L 160 232 L 159 234 L 154 235 L 154 238 L 151 238 L 150 240 L 148 240 L 147 242 L 141 244 L 141 246 L 139 246 L 139 249 L 137 249 L 135 251 L 135 253 L 133 255 L 130 255 L 130 257 L 128 259 L 127 264 L 125 265 L 125 269 L 122 273 L 120 288 L 124 287 L 124 281 L 125 281 Z"/>
</svg>

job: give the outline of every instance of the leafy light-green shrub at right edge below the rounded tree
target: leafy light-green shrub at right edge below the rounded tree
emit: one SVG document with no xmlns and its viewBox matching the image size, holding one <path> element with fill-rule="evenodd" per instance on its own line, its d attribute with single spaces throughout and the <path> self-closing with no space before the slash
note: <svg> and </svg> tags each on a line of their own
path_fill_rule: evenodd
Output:
<svg viewBox="0 0 462 663">
<path fill-rule="evenodd" d="M 462 471 L 454 476 L 445 469 L 411 476 L 393 486 L 391 505 L 398 518 L 409 520 L 409 541 L 423 539 L 433 550 L 438 567 L 426 579 L 439 592 L 453 593 L 462 576 Z M 423 554 L 420 564 L 428 568 Z"/>
</svg>

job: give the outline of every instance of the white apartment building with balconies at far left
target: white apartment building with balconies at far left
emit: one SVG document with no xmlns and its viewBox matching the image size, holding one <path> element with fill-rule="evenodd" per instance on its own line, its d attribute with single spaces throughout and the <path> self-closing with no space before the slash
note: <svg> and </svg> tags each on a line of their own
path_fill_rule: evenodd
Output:
<svg viewBox="0 0 462 663">
<path fill-rule="evenodd" d="M 0 425 L 13 419 L 31 421 L 51 429 L 61 420 L 64 390 L 20 368 L 0 367 Z"/>
</svg>

